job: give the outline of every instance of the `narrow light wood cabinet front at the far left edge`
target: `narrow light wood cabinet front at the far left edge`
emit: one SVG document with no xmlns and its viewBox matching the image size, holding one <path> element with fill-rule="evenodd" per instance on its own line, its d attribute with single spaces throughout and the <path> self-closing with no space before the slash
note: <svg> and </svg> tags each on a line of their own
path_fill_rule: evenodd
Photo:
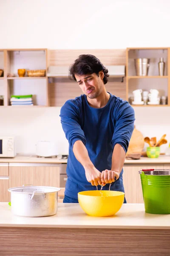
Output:
<svg viewBox="0 0 170 256">
<path fill-rule="evenodd" d="M 0 202 L 9 201 L 8 163 L 0 163 Z"/>
</svg>

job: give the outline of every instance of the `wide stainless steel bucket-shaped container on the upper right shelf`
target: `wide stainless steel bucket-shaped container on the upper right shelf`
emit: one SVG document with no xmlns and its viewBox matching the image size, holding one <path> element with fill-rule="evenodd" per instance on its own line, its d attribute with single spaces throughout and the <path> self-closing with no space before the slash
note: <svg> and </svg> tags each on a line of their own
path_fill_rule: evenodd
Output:
<svg viewBox="0 0 170 256">
<path fill-rule="evenodd" d="M 147 76 L 149 70 L 149 58 L 136 58 L 134 59 L 136 76 Z"/>
</svg>

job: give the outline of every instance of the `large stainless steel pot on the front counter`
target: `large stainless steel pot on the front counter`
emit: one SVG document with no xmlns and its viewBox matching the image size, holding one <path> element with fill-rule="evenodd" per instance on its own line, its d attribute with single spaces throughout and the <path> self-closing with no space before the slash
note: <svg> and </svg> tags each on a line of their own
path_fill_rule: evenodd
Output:
<svg viewBox="0 0 170 256">
<path fill-rule="evenodd" d="M 11 210 L 23 217 L 43 217 L 57 213 L 58 191 L 50 186 L 22 186 L 8 189 L 11 192 Z"/>
</svg>

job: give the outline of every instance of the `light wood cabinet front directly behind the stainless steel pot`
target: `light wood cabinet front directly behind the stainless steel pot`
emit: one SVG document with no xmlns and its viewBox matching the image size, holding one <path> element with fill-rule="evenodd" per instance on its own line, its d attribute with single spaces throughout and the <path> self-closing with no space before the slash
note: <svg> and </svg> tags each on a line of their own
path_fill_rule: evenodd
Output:
<svg viewBox="0 0 170 256">
<path fill-rule="evenodd" d="M 9 186 L 59 187 L 59 165 L 41 163 L 9 163 Z"/>
</svg>

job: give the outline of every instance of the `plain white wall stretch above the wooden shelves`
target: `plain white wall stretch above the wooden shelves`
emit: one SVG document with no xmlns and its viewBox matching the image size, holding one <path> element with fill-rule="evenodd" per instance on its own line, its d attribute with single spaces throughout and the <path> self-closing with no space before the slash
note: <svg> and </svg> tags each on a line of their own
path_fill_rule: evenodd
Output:
<svg viewBox="0 0 170 256">
<path fill-rule="evenodd" d="M 168 0 L 1 0 L 0 47 L 170 46 Z"/>
</svg>

